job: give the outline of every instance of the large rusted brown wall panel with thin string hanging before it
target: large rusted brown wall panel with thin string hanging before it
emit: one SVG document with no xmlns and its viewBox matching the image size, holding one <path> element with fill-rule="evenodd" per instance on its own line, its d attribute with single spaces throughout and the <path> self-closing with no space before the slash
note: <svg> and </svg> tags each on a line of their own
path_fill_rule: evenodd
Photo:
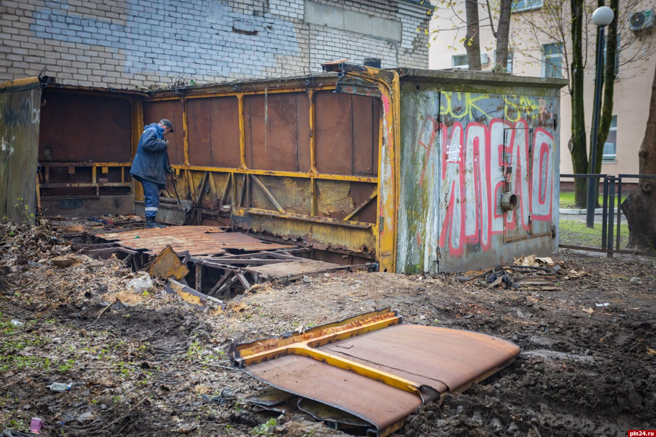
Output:
<svg viewBox="0 0 656 437">
<path fill-rule="evenodd" d="M 306 93 L 244 97 L 246 165 L 251 169 L 310 170 L 310 99 Z"/>
</svg>

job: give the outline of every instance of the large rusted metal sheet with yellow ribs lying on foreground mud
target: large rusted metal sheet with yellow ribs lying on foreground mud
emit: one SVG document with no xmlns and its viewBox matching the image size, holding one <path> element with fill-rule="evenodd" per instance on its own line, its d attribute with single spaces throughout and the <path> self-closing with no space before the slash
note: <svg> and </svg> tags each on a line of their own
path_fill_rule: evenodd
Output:
<svg viewBox="0 0 656 437">
<path fill-rule="evenodd" d="M 389 308 L 247 344 L 233 365 L 281 390 L 336 407 L 388 435 L 422 403 L 512 363 L 520 348 L 471 331 L 403 324 Z"/>
</svg>

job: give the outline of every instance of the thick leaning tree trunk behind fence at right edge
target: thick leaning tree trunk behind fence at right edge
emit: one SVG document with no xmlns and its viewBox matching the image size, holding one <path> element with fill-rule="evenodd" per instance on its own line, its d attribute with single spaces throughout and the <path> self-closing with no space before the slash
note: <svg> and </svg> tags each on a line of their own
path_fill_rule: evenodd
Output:
<svg viewBox="0 0 656 437">
<path fill-rule="evenodd" d="M 651 100 L 645 136 L 638 152 L 640 175 L 656 175 L 656 72 L 651 83 Z M 628 223 L 628 246 L 656 252 L 656 179 L 640 178 L 638 193 L 622 202 Z"/>
</svg>

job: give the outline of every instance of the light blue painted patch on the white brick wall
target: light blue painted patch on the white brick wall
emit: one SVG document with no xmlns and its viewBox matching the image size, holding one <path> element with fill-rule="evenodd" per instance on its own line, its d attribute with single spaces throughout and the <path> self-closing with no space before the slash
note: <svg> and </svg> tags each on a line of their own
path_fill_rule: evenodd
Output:
<svg viewBox="0 0 656 437">
<path fill-rule="evenodd" d="M 298 56 L 300 52 L 293 24 L 271 14 L 233 12 L 214 1 L 199 1 L 192 8 L 144 3 L 129 0 L 127 19 L 121 25 L 81 18 L 70 12 L 66 3 L 48 2 L 33 14 L 30 28 L 44 39 L 115 49 L 125 56 L 125 72 L 133 74 L 227 77 L 236 68 L 237 58 L 249 66 L 249 73 L 261 75 L 264 68 L 276 64 L 276 56 Z M 233 29 L 236 23 L 239 27 L 248 23 L 253 30 L 237 33 Z"/>
</svg>

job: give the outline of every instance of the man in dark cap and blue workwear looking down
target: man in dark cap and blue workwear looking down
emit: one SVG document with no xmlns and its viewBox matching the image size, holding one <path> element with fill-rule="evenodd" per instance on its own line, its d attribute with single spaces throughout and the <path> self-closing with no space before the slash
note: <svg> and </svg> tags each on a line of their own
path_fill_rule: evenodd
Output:
<svg viewBox="0 0 656 437">
<path fill-rule="evenodd" d="M 166 186 L 165 172 L 173 173 L 167 159 L 169 141 L 164 138 L 169 132 L 173 132 L 173 123 L 166 118 L 146 125 L 130 169 L 130 175 L 144 187 L 146 228 L 166 227 L 157 223 L 155 216 L 159 208 L 159 190 Z"/>
</svg>

